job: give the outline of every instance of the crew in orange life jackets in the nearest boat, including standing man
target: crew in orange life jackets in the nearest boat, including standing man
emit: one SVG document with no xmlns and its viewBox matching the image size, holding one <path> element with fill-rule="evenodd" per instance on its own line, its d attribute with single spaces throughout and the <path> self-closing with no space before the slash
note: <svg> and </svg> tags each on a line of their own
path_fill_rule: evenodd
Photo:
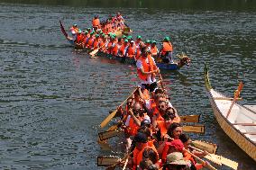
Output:
<svg viewBox="0 0 256 170">
<path fill-rule="evenodd" d="M 205 157 L 206 151 L 189 148 L 191 140 L 182 132 L 177 110 L 169 101 L 161 83 L 154 58 L 148 48 L 136 62 L 141 84 L 127 99 L 125 107 L 118 106 L 121 115 L 120 128 L 126 139 L 126 152 L 131 153 L 126 168 L 132 170 L 176 170 L 201 169 L 205 165 L 197 161 L 184 149 L 197 157 Z M 161 82 L 161 77 L 160 77 Z"/>
</svg>

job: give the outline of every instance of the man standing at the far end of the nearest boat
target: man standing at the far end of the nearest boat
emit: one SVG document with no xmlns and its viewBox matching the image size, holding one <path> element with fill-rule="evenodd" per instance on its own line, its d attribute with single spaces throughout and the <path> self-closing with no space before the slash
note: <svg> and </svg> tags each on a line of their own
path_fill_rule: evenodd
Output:
<svg viewBox="0 0 256 170">
<path fill-rule="evenodd" d="M 142 48 L 142 55 L 137 60 L 136 67 L 142 88 L 153 92 L 157 87 L 155 74 L 159 73 L 159 68 L 156 66 L 154 58 L 151 57 L 150 50 L 145 47 Z"/>
</svg>

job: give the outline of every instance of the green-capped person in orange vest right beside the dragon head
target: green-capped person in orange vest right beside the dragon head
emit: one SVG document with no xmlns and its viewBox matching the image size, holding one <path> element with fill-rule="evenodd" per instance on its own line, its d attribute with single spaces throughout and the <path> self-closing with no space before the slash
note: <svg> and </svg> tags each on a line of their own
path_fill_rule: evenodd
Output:
<svg viewBox="0 0 256 170">
<path fill-rule="evenodd" d="M 173 63 L 172 60 L 172 44 L 169 40 L 169 37 L 165 37 L 162 42 L 162 48 L 160 50 L 162 61 L 164 63 Z"/>
</svg>

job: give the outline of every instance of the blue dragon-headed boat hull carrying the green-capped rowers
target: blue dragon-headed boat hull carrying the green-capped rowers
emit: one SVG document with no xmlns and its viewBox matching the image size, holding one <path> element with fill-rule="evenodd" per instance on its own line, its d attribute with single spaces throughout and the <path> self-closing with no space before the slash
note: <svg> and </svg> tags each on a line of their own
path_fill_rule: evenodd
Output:
<svg viewBox="0 0 256 170">
<path fill-rule="evenodd" d="M 83 49 L 81 47 L 77 47 L 76 44 L 74 43 L 74 40 L 69 37 L 68 33 L 65 31 L 62 23 L 59 21 L 60 23 L 60 30 L 62 31 L 63 35 L 65 36 L 65 38 L 69 41 L 69 43 L 75 48 L 75 49 Z M 84 49 L 89 51 L 89 49 Z M 104 58 L 109 58 L 109 59 L 114 59 L 114 60 L 118 60 L 121 63 L 127 63 L 127 64 L 136 64 L 136 61 L 133 58 L 124 58 L 124 57 L 119 57 L 119 56 L 114 56 L 112 54 L 106 54 L 103 51 L 99 51 L 97 53 L 97 56 L 99 57 L 104 57 Z M 166 64 L 166 63 L 156 63 L 157 66 L 160 69 L 166 69 L 166 70 L 178 70 L 180 67 L 183 67 L 185 65 L 189 66 L 190 65 L 190 58 L 188 58 L 186 55 L 179 55 L 179 61 L 176 61 L 174 63 L 171 64 Z"/>
</svg>

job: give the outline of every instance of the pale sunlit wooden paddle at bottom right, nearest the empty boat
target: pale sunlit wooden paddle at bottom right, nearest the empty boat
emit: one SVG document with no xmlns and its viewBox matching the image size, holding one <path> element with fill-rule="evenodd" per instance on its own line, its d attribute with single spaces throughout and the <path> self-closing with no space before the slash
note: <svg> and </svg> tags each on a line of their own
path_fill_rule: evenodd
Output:
<svg viewBox="0 0 256 170">
<path fill-rule="evenodd" d="M 189 146 L 189 148 L 193 148 L 193 149 L 196 149 L 196 150 L 198 150 L 200 152 L 203 152 L 199 148 L 195 148 L 195 147 L 191 147 L 191 146 Z M 226 157 L 218 156 L 218 155 L 215 155 L 215 154 L 208 154 L 208 155 L 206 155 L 206 159 L 208 159 L 208 160 L 210 160 L 210 161 L 212 161 L 215 164 L 220 165 L 220 166 L 222 166 L 222 164 L 224 164 L 225 166 L 229 166 L 229 167 L 231 167 L 233 169 L 237 169 L 237 167 L 238 167 L 238 163 L 237 162 L 234 162 L 233 160 L 230 160 L 230 159 L 228 159 Z"/>
</svg>

